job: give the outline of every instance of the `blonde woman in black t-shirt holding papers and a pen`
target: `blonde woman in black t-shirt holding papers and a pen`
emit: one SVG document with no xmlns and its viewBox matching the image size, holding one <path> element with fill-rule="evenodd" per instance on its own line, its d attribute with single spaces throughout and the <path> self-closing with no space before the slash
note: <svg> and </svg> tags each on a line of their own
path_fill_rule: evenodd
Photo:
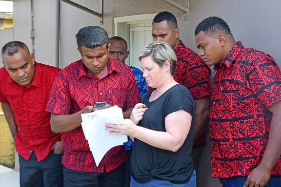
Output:
<svg viewBox="0 0 281 187">
<path fill-rule="evenodd" d="M 131 187 L 196 187 L 189 156 L 194 103 L 188 89 L 174 80 L 177 57 L 160 41 L 141 50 L 138 58 L 143 77 L 155 90 L 134 107 L 130 119 L 106 124 L 110 133 L 134 138 Z"/>
</svg>

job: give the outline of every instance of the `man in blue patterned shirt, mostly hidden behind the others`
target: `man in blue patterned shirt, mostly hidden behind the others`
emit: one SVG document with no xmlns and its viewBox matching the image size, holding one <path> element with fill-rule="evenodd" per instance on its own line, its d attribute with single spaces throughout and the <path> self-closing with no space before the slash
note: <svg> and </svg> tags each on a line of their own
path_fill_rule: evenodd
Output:
<svg viewBox="0 0 281 187">
<path fill-rule="evenodd" d="M 122 37 L 111 37 L 109 38 L 110 47 L 108 50 L 109 58 L 119 60 L 120 62 L 125 63 L 126 58 L 129 56 L 128 44 L 126 40 Z M 141 100 L 143 100 L 144 96 L 148 93 L 147 83 L 145 78 L 142 76 L 142 71 L 138 68 L 130 66 L 135 76 L 138 89 L 141 95 Z M 124 143 L 125 149 L 128 151 L 128 159 L 125 161 L 126 164 L 126 174 L 125 174 L 125 186 L 130 187 L 131 180 L 131 166 L 130 159 L 133 148 L 133 141 L 128 136 L 128 141 Z"/>
</svg>

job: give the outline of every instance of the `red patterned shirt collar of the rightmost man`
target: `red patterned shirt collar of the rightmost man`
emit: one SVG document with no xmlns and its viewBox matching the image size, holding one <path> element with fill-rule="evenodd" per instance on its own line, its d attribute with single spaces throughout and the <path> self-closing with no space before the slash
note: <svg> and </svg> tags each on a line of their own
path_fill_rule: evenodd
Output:
<svg viewBox="0 0 281 187">
<path fill-rule="evenodd" d="M 229 51 L 227 56 L 224 58 L 224 60 L 220 63 L 220 65 L 215 65 L 214 70 L 217 71 L 220 69 L 222 65 L 225 65 L 226 67 L 229 67 L 236 57 L 240 54 L 241 50 L 244 48 L 241 41 L 236 42 L 236 45 Z"/>
</svg>

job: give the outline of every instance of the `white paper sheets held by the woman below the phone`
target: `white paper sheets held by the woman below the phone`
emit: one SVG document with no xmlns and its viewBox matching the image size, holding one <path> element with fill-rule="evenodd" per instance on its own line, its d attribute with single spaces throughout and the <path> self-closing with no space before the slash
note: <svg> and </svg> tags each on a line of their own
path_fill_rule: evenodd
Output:
<svg viewBox="0 0 281 187">
<path fill-rule="evenodd" d="M 122 109 L 118 106 L 82 113 L 81 116 L 82 129 L 97 166 L 108 150 L 128 141 L 126 135 L 109 134 L 105 129 L 106 123 L 118 124 L 123 119 Z"/>
</svg>

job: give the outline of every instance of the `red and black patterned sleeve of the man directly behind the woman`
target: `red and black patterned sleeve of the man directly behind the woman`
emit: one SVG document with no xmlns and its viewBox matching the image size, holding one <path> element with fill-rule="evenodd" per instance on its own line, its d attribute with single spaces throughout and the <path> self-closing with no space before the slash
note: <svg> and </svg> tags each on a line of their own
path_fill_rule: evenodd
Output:
<svg viewBox="0 0 281 187">
<path fill-rule="evenodd" d="M 194 52 L 186 52 L 179 59 L 181 83 L 188 88 L 194 100 L 211 95 L 210 68 Z"/>
</svg>

